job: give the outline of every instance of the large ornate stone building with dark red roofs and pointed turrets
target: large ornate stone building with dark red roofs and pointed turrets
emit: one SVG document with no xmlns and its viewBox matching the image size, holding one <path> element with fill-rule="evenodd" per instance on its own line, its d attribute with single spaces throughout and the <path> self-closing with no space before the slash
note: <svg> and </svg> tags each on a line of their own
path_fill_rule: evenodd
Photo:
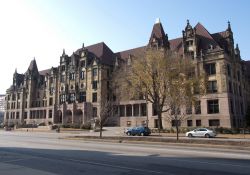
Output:
<svg viewBox="0 0 250 175">
<path fill-rule="evenodd" d="M 32 60 L 25 73 L 13 74 L 13 84 L 5 96 L 5 124 L 86 124 L 100 114 L 103 100 L 112 94 L 111 75 L 119 64 L 148 47 L 170 49 L 181 56 L 191 55 L 196 69 L 205 71 L 208 87 L 188 112 L 184 127 L 243 127 L 248 107 L 249 62 L 243 61 L 234 44 L 230 23 L 226 30 L 209 33 L 200 23 L 187 24 L 180 37 L 169 40 L 159 20 L 149 43 L 114 53 L 104 42 L 82 45 L 72 55 L 63 51 L 60 65 L 38 70 Z M 109 124 L 121 127 L 148 124 L 157 127 L 152 104 L 145 100 L 119 101 Z M 163 127 L 171 127 L 164 119 Z"/>
</svg>

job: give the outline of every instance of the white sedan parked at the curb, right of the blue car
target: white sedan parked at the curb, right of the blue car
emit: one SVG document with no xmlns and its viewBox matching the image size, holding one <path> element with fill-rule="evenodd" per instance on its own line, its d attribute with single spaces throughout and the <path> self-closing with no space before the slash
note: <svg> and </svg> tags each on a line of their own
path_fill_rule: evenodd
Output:
<svg viewBox="0 0 250 175">
<path fill-rule="evenodd" d="M 193 131 L 186 132 L 186 137 L 215 137 L 216 132 L 207 128 L 197 128 Z"/>
</svg>

